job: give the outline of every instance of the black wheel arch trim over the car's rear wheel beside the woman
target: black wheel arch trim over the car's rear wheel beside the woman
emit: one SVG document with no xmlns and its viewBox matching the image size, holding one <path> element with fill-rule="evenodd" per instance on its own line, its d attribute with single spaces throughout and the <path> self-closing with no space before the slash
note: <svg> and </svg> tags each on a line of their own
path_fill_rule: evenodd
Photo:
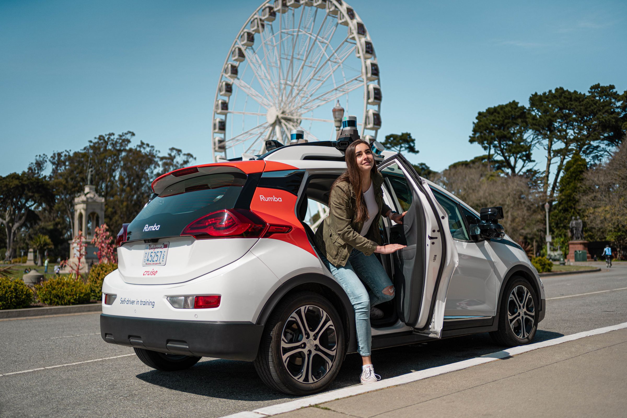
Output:
<svg viewBox="0 0 627 418">
<path fill-rule="evenodd" d="M 270 314 L 278 305 L 278 303 L 288 294 L 290 291 L 296 290 L 296 288 L 302 287 L 303 285 L 314 285 L 314 286 L 322 286 L 326 288 L 328 291 L 332 292 L 332 294 L 341 301 L 342 306 L 335 306 L 335 308 L 339 309 L 339 314 L 342 315 L 344 319 L 344 328 L 347 330 L 346 332 L 346 341 L 347 341 L 347 353 L 352 353 L 357 351 L 357 330 L 355 323 L 355 310 L 350 303 L 349 296 L 346 295 L 342 286 L 337 283 L 337 281 L 333 280 L 329 276 L 325 276 L 325 274 L 320 273 L 304 273 L 299 274 L 298 276 L 294 276 L 289 280 L 285 281 L 281 286 L 274 291 L 274 293 L 268 298 L 263 308 L 261 308 L 261 312 L 256 320 L 256 325 L 265 325 L 266 321 L 270 317 Z M 305 290 L 305 289 L 303 289 Z M 323 295 L 324 296 L 324 295 Z M 334 301 L 330 301 L 333 303 Z"/>
</svg>

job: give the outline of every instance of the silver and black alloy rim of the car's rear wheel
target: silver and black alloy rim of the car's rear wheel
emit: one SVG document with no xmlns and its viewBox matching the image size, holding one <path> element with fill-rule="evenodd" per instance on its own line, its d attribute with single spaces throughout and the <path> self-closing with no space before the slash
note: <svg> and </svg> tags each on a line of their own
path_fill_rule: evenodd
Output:
<svg viewBox="0 0 627 418">
<path fill-rule="evenodd" d="M 335 325 L 322 308 L 305 305 L 292 312 L 281 333 L 281 357 L 293 379 L 318 382 L 333 366 L 336 354 Z"/>
</svg>

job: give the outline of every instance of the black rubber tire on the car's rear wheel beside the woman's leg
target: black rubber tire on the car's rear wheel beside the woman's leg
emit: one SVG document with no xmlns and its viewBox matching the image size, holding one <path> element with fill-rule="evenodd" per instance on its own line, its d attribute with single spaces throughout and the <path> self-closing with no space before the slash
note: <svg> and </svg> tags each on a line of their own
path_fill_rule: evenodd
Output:
<svg viewBox="0 0 627 418">
<path fill-rule="evenodd" d="M 304 326 L 310 333 L 316 331 L 315 327 L 320 326 L 324 331 L 319 331 L 319 335 L 313 333 L 306 335 L 306 332 L 299 332 L 300 327 L 293 319 L 292 313 L 296 314 L 297 310 L 302 312 L 300 308 L 303 307 L 305 311 L 302 315 L 305 315 L 305 324 L 307 324 Z M 323 313 L 327 316 L 322 315 Z M 316 322 L 316 315 L 320 318 L 318 322 Z M 327 325 L 329 321 L 334 331 Z M 282 347 L 283 333 L 287 335 L 283 342 L 285 345 L 299 342 L 301 344 L 291 348 Z M 261 380 L 271 389 L 290 395 L 315 394 L 329 387 L 339 372 L 344 361 L 345 341 L 344 326 L 334 306 L 318 293 L 299 292 L 279 303 L 268 318 L 261 336 L 259 352 L 253 363 Z M 319 344 L 332 348 L 331 351 L 335 353 L 334 356 L 328 355 L 327 357 L 332 360 L 330 367 L 329 362 L 325 362 L 320 355 L 328 351 L 323 352 Z M 287 357 L 286 364 L 283 362 L 283 354 L 288 352 L 297 353 Z M 305 374 L 304 370 L 307 365 L 312 365 L 312 372 Z M 314 367 L 315 370 L 313 370 Z M 299 370 L 302 374 L 298 374 Z M 297 380 L 294 374 L 297 374 L 297 377 L 302 376 L 302 381 Z"/>
</svg>

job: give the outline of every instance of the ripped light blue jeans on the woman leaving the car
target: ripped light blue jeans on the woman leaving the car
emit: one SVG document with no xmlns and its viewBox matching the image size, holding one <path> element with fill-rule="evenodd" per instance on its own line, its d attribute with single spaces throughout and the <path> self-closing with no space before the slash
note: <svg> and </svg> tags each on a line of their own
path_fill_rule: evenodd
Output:
<svg viewBox="0 0 627 418">
<path fill-rule="evenodd" d="M 370 308 L 394 298 L 394 295 L 383 293 L 387 286 L 392 286 L 392 281 L 374 254 L 366 256 L 358 249 L 353 249 L 344 267 L 334 266 L 325 256 L 319 255 L 322 263 L 349 296 L 355 310 L 357 352 L 366 357 L 370 355 L 372 347 Z M 362 281 L 368 285 L 370 291 L 366 290 Z"/>
</svg>

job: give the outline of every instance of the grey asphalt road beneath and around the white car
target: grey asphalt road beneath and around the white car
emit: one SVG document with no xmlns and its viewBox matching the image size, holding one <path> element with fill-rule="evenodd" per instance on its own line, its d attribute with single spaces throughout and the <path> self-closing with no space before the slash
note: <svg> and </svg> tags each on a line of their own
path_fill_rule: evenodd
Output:
<svg viewBox="0 0 627 418">
<path fill-rule="evenodd" d="M 627 263 L 543 281 L 547 315 L 536 342 L 627 321 L 627 290 L 614 290 L 627 288 Z M 102 341 L 97 313 L 0 320 L 0 349 L 0 374 L 62 365 L 0 376 L 0 417 L 221 417 L 295 399 L 267 389 L 251 363 L 203 358 L 182 372 L 153 370 L 131 348 Z M 386 378 L 498 350 L 480 334 L 377 350 L 372 357 Z M 357 384 L 360 365 L 349 355 L 331 389 Z"/>
</svg>

